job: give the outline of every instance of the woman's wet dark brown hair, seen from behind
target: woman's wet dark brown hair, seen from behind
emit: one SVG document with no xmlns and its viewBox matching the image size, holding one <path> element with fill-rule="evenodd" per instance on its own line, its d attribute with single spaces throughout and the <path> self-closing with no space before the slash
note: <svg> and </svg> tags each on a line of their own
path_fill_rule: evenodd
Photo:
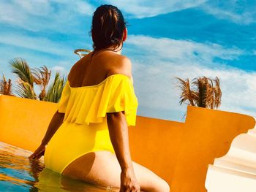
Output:
<svg viewBox="0 0 256 192">
<path fill-rule="evenodd" d="M 112 45 L 120 47 L 125 27 L 124 17 L 117 7 L 110 4 L 99 6 L 91 23 L 94 50 L 106 49 Z"/>
</svg>

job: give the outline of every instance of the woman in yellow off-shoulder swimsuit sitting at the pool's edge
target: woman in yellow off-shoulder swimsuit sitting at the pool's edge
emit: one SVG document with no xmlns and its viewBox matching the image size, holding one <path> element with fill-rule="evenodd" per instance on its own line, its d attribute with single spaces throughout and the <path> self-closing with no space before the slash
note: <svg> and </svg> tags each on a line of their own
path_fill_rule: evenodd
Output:
<svg viewBox="0 0 256 192">
<path fill-rule="evenodd" d="M 138 100 L 131 62 L 121 55 L 127 28 L 120 10 L 98 7 L 91 36 L 93 52 L 72 66 L 58 111 L 29 158 L 44 154 L 48 169 L 120 191 L 169 191 L 165 180 L 130 156 L 127 126 L 135 126 Z"/>
</svg>

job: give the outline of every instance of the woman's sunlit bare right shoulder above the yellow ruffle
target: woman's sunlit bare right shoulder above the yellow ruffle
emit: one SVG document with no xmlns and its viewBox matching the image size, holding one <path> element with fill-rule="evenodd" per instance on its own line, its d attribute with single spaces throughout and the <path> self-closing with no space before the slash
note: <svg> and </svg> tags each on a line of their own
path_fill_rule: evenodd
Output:
<svg viewBox="0 0 256 192">
<path fill-rule="evenodd" d="M 127 56 L 118 55 L 111 66 L 109 74 L 125 74 L 132 77 L 132 62 Z"/>
</svg>

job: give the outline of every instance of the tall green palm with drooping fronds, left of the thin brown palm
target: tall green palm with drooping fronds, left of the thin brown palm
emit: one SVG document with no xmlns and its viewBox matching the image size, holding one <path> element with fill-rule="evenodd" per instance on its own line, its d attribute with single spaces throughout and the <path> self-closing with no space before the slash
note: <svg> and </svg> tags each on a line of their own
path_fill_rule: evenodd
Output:
<svg viewBox="0 0 256 192">
<path fill-rule="evenodd" d="M 34 77 L 26 60 L 14 58 L 10 61 L 10 65 L 12 66 L 12 72 L 18 75 L 18 96 L 27 99 L 37 99 L 37 95 L 34 93 Z"/>
</svg>

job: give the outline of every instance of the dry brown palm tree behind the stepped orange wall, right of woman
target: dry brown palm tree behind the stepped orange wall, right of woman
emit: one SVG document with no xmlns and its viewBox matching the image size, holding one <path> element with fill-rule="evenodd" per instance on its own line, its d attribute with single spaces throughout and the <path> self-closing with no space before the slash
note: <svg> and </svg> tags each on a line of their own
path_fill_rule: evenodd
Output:
<svg viewBox="0 0 256 192">
<path fill-rule="evenodd" d="M 222 91 L 219 85 L 219 78 L 214 80 L 208 77 L 198 77 L 192 80 L 193 89 L 189 79 L 182 80 L 176 77 L 181 88 L 180 104 L 189 101 L 192 106 L 217 109 L 221 104 Z M 214 85 L 215 84 L 215 85 Z"/>
</svg>

